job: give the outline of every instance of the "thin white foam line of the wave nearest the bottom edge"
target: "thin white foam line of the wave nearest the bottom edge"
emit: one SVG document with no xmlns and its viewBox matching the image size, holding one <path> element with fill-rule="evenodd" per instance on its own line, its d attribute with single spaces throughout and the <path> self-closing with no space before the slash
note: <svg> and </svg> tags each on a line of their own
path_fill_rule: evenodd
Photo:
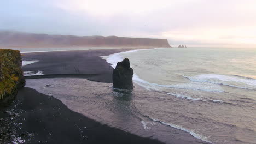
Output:
<svg viewBox="0 0 256 144">
<path fill-rule="evenodd" d="M 149 118 L 152 119 L 152 120 L 155 121 L 155 122 L 159 122 L 159 123 L 162 123 L 162 124 L 164 124 L 164 125 L 168 125 L 168 126 L 170 126 L 170 127 L 172 127 L 172 128 L 176 128 L 176 129 L 180 129 L 180 130 L 186 131 L 187 133 L 189 133 L 190 135 L 192 135 L 192 136 L 195 137 L 196 139 L 200 139 L 200 140 L 205 141 L 205 142 L 208 142 L 208 143 L 213 143 L 213 142 L 209 141 L 206 136 L 197 134 L 197 133 L 195 133 L 194 131 L 185 129 L 185 128 L 179 126 L 179 125 L 172 124 L 172 123 L 162 122 L 162 121 L 159 121 L 158 119 L 151 118 L 151 117 L 149 117 Z"/>
</svg>

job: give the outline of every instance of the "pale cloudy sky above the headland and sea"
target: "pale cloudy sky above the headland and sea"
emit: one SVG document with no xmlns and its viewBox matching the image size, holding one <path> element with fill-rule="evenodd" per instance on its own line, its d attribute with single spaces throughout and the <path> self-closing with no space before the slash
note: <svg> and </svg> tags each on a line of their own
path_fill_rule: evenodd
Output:
<svg viewBox="0 0 256 144">
<path fill-rule="evenodd" d="M 0 30 L 256 48 L 255 0 L 8 0 L 0 7 Z"/>
</svg>

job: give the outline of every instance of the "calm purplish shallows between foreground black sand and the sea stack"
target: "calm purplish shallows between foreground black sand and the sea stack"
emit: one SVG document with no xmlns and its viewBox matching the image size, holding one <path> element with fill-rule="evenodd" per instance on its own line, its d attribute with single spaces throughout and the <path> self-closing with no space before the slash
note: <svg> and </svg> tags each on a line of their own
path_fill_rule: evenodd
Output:
<svg viewBox="0 0 256 144">
<path fill-rule="evenodd" d="M 155 104 L 161 101 L 165 94 L 162 93 L 162 97 L 156 99 L 154 96 L 159 94 L 158 92 L 147 91 L 143 87 L 135 86 L 134 91 L 124 92 L 112 89 L 111 83 L 93 82 L 86 79 L 26 80 L 26 87 L 60 99 L 69 109 L 103 124 L 139 136 L 153 137 L 166 143 L 204 143 L 194 139 L 193 136 L 208 141 L 195 131 L 189 131 L 172 123 L 168 123 L 168 125 L 161 122 L 160 119 L 154 119 L 153 115 L 146 115 L 144 110 L 141 110 L 149 106 L 156 108 Z M 152 105 L 148 105 L 150 102 Z M 152 108 L 148 110 L 152 111 Z"/>
</svg>

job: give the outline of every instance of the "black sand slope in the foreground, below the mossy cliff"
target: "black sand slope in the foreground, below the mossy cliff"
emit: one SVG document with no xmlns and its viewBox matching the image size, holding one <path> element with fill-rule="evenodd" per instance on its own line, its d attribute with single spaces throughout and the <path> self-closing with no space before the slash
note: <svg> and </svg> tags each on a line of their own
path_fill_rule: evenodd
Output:
<svg viewBox="0 0 256 144">
<path fill-rule="evenodd" d="M 19 90 L 14 105 L 20 113 L 15 121 L 22 123 L 18 135 L 34 134 L 20 136 L 25 143 L 161 143 L 102 125 L 32 88 Z"/>
</svg>

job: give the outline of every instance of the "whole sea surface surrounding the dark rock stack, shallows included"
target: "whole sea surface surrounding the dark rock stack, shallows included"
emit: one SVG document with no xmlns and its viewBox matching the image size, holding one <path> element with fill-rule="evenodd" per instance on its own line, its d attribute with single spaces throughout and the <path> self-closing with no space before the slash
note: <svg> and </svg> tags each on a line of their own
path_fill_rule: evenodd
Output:
<svg viewBox="0 0 256 144">
<path fill-rule="evenodd" d="M 256 143 L 256 49 L 147 49 L 102 58 L 114 68 L 125 57 L 135 72 L 132 92 L 71 78 L 26 86 L 96 121 L 166 143 Z"/>
</svg>

